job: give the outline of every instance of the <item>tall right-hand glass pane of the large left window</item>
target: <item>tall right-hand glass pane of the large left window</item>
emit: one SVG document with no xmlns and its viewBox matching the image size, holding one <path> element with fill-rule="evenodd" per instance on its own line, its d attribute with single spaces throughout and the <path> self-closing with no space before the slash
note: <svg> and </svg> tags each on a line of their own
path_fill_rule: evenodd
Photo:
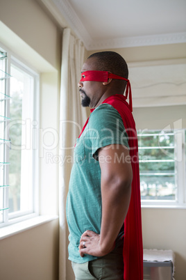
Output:
<svg viewBox="0 0 186 280">
<path fill-rule="evenodd" d="M 33 77 L 11 65 L 9 213 L 33 210 Z"/>
</svg>

